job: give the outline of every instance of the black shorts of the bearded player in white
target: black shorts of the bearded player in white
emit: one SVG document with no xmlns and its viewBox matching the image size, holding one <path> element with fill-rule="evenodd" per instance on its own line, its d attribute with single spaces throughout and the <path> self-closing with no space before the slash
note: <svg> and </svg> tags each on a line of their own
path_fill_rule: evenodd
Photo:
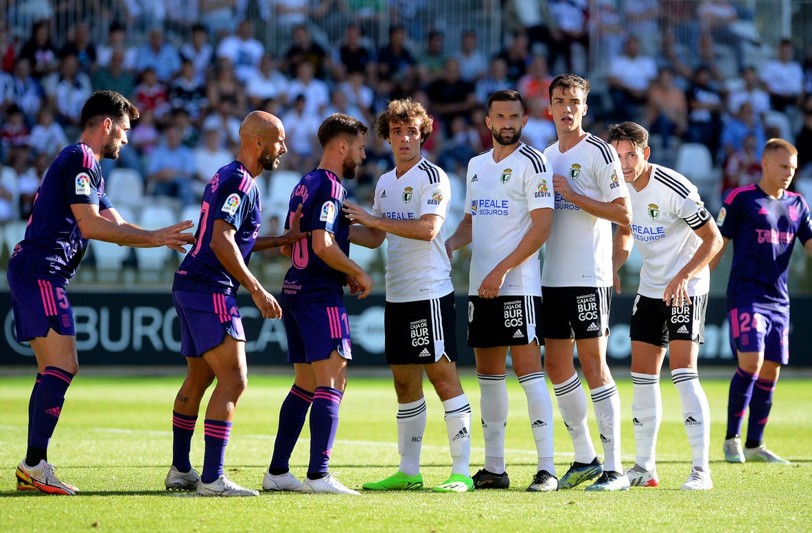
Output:
<svg viewBox="0 0 812 533">
<path fill-rule="evenodd" d="M 468 297 L 468 346 L 525 346 L 533 341 L 542 345 L 537 327 L 538 296 L 498 296 L 486 299 Z"/>
</svg>

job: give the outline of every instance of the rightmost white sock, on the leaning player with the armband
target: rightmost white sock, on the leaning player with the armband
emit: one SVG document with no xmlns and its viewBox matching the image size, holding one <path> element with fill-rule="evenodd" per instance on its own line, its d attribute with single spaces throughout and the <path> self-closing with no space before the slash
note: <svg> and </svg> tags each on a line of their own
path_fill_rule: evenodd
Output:
<svg viewBox="0 0 812 533">
<path fill-rule="evenodd" d="M 702 384 L 699 383 L 699 372 L 693 368 L 677 368 L 671 372 L 671 380 L 676 393 L 680 395 L 682 419 L 693 456 L 692 464 L 710 472 L 708 448 L 711 445 L 711 410 Z"/>
</svg>

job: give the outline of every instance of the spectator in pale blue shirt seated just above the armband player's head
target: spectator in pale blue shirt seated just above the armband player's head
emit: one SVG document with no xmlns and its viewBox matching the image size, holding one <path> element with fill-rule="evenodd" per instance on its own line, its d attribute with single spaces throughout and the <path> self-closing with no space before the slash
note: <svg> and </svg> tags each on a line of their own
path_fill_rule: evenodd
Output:
<svg viewBox="0 0 812 533">
<path fill-rule="evenodd" d="M 618 122 L 632 120 L 639 122 L 637 114 L 652 80 L 657 77 L 657 63 L 654 58 L 640 55 L 640 41 L 630 36 L 626 39 L 623 54 L 611 59 L 609 66 L 609 95 L 611 96 L 612 117 Z"/>
</svg>

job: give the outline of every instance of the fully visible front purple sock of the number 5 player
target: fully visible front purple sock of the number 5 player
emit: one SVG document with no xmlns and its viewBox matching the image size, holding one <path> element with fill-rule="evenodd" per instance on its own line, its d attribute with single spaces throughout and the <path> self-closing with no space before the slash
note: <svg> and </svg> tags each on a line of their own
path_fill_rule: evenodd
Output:
<svg viewBox="0 0 812 533">
<path fill-rule="evenodd" d="M 28 466 L 34 466 L 42 459 L 47 461 L 48 442 L 54 435 L 54 428 L 59 421 L 59 415 L 62 414 L 65 393 L 71 385 L 71 380 L 73 374 L 62 368 L 45 367 L 42 371 L 28 430 L 28 453 L 25 457 Z"/>
</svg>

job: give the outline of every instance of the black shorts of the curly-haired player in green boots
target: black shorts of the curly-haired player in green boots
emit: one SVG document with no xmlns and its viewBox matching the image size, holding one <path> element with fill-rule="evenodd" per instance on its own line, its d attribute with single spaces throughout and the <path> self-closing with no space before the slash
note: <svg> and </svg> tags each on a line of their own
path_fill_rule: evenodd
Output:
<svg viewBox="0 0 812 533">
<path fill-rule="evenodd" d="M 389 364 L 457 360 L 454 293 L 417 302 L 387 302 L 384 350 Z"/>
</svg>

